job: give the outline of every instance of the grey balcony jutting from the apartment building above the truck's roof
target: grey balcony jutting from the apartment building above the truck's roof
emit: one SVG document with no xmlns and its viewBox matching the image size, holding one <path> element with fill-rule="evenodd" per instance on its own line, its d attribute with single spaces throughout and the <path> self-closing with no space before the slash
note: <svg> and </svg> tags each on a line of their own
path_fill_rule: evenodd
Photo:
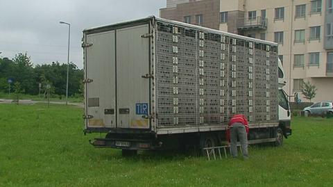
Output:
<svg viewBox="0 0 333 187">
<path fill-rule="evenodd" d="M 237 19 L 237 29 L 238 31 L 266 30 L 267 18 L 257 16 Z"/>
</svg>

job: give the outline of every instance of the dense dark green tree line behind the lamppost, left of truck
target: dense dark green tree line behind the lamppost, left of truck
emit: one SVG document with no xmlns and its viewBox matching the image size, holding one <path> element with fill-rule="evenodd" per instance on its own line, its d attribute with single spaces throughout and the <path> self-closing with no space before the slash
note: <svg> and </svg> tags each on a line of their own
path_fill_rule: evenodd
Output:
<svg viewBox="0 0 333 187">
<path fill-rule="evenodd" d="M 83 70 L 78 69 L 74 63 L 69 63 L 69 90 L 68 95 L 82 95 Z M 37 95 L 39 84 L 44 92 L 46 83 L 51 84 L 55 95 L 66 94 L 67 63 L 53 62 L 51 64 L 33 65 L 28 54 L 19 53 L 10 60 L 0 58 L 0 92 L 8 92 L 8 82 L 18 81 L 26 94 Z"/>
</svg>

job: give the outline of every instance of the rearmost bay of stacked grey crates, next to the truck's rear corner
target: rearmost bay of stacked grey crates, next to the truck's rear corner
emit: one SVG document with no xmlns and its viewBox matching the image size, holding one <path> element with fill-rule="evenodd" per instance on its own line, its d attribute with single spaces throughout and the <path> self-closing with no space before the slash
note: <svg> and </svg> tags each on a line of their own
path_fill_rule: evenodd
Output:
<svg viewBox="0 0 333 187">
<path fill-rule="evenodd" d="M 158 23 L 157 116 L 160 126 L 198 123 L 196 33 Z"/>
</svg>

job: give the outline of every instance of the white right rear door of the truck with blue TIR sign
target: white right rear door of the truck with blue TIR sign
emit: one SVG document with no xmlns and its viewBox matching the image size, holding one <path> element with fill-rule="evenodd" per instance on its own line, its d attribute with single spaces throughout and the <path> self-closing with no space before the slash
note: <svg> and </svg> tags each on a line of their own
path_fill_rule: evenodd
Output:
<svg viewBox="0 0 333 187">
<path fill-rule="evenodd" d="M 148 129 L 149 25 L 117 29 L 117 128 Z"/>
</svg>

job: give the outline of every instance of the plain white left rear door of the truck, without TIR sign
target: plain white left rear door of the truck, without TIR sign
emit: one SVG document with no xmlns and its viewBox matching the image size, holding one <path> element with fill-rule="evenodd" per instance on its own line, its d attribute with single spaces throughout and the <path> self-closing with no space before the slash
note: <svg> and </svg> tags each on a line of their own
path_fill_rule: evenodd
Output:
<svg viewBox="0 0 333 187">
<path fill-rule="evenodd" d="M 115 32 L 85 37 L 86 128 L 116 126 Z"/>
</svg>

